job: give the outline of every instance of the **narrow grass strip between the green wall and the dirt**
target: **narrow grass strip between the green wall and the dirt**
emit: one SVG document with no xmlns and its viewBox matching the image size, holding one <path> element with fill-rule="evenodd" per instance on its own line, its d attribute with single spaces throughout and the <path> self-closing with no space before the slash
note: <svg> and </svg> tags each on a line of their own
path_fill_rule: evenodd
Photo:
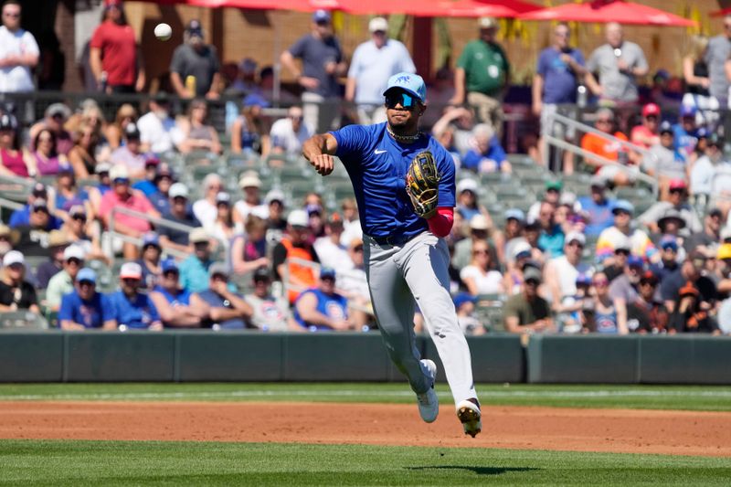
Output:
<svg viewBox="0 0 731 487">
<path fill-rule="evenodd" d="M 437 386 L 449 401 L 446 385 Z M 480 385 L 486 405 L 731 411 L 728 386 Z M 5 384 L 0 400 L 305 401 L 412 403 L 402 384 Z"/>
</svg>

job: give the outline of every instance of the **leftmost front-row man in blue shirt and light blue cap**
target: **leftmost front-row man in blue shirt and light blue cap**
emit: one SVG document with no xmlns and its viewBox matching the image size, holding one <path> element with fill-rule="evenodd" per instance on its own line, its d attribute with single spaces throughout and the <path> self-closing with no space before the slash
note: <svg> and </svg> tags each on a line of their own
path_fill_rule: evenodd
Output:
<svg viewBox="0 0 731 487">
<path fill-rule="evenodd" d="M 58 323 L 61 330 L 102 328 L 116 330 L 114 306 L 110 299 L 97 292 L 97 274 L 83 268 L 76 274 L 72 291 L 61 298 Z"/>
</svg>

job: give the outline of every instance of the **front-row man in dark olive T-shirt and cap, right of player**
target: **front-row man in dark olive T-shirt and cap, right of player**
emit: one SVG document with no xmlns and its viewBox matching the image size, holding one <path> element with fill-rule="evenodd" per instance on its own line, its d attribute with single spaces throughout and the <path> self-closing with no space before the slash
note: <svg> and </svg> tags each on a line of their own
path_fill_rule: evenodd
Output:
<svg viewBox="0 0 731 487">
<path fill-rule="evenodd" d="M 505 331 L 509 333 L 537 333 L 554 331 L 551 307 L 538 296 L 541 271 L 527 265 L 523 271 L 523 291 L 507 302 L 503 312 Z"/>
</svg>

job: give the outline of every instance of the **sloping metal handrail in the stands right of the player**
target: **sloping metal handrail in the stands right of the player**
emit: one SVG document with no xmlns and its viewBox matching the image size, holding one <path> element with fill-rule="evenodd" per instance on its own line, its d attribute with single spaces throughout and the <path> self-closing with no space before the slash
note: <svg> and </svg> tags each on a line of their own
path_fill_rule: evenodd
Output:
<svg viewBox="0 0 731 487">
<path fill-rule="evenodd" d="M 652 159 L 655 163 L 657 163 L 657 161 L 658 161 L 657 155 L 652 154 L 652 152 L 648 151 L 644 147 L 640 147 L 639 145 L 637 145 L 635 143 L 630 143 L 629 141 L 623 141 L 623 140 L 615 137 L 614 135 L 611 135 L 607 132 L 601 132 L 598 129 L 596 129 L 586 123 L 577 122 L 576 120 L 570 119 L 565 115 L 561 115 L 560 113 L 552 113 L 549 115 L 548 120 L 547 120 L 548 126 L 553 128 L 554 122 L 563 123 L 564 125 L 567 126 L 567 128 L 572 128 L 572 129 L 575 129 L 575 130 L 578 130 L 581 132 L 593 133 L 594 135 L 597 135 L 597 136 L 601 137 L 602 139 L 605 139 L 609 142 L 619 143 L 622 148 L 630 149 L 630 151 L 632 151 L 632 152 L 642 154 L 642 157 L 648 157 L 648 158 Z M 553 145 L 557 149 L 562 149 L 562 150 L 568 151 L 573 154 L 581 155 L 582 157 L 585 157 L 585 158 L 588 157 L 588 158 L 596 159 L 602 165 L 616 165 L 616 166 L 619 166 L 620 169 L 624 169 L 624 170 L 627 169 L 627 166 L 624 164 L 621 164 L 620 162 L 611 161 L 611 160 L 607 159 L 606 157 L 600 156 L 599 154 L 594 154 L 594 153 L 585 151 L 584 149 L 577 146 L 576 144 L 568 143 L 567 141 L 556 138 L 553 135 L 544 136 L 544 143 L 546 145 Z M 547 149 L 547 147 L 546 147 L 546 149 Z M 546 150 L 546 153 L 547 153 L 547 150 Z M 658 183 L 657 178 L 652 177 L 651 175 L 642 173 L 642 170 L 641 170 L 641 167 L 639 164 L 638 164 L 637 168 L 638 168 L 638 173 L 636 175 L 637 179 L 650 185 L 650 187 L 652 188 L 652 195 L 658 196 L 659 183 Z"/>
</svg>

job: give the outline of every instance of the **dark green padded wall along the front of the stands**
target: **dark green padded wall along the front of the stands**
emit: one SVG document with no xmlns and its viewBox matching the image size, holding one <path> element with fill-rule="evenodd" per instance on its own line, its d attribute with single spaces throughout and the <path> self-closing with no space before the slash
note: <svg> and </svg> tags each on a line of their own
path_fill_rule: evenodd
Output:
<svg viewBox="0 0 731 487">
<path fill-rule="evenodd" d="M 476 382 L 731 384 L 731 338 L 469 339 Z M 418 337 L 424 357 L 436 347 Z M 0 333 L 0 382 L 402 381 L 378 333 Z"/>
</svg>

